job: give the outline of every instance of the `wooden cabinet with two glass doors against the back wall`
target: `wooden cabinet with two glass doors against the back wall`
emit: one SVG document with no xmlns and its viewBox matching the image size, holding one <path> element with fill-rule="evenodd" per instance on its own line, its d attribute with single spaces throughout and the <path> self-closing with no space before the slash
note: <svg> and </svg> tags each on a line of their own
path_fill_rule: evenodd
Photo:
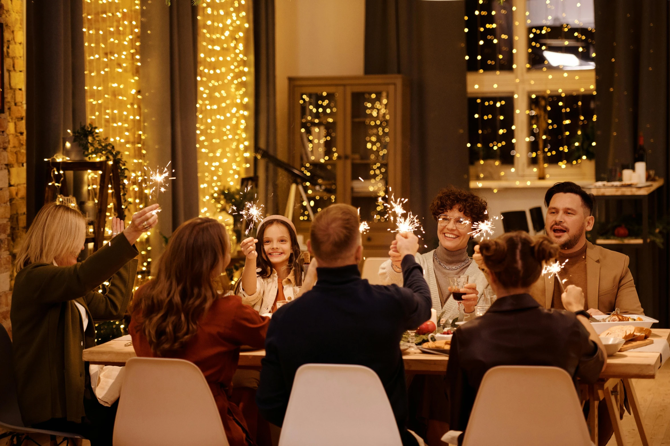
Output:
<svg viewBox="0 0 670 446">
<path fill-rule="evenodd" d="M 314 178 L 304 183 L 314 213 L 332 203 L 358 207 L 371 227 L 364 255 L 386 256 L 394 235 L 381 201 L 409 198 L 407 78 L 289 78 L 289 150 L 293 166 Z M 293 221 L 307 235 L 302 200 Z"/>
</svg>

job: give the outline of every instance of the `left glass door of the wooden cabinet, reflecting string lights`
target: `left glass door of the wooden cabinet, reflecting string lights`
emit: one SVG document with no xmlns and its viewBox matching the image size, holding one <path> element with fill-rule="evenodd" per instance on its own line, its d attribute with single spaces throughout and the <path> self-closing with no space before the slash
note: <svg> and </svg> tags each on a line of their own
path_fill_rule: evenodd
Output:
<svg viewBox="0 0 670 446">
<path fill-rule="evenodd" d="M 294 150 L 299 153 L 300 170 L 314 178 L 303 185 L 314 213 L 342 201 L 338 197 L 342 190 L 338 187 L 338 159 L 344 150 L 340 146 L 338 116 L 343 113 L 344 104 L 340 101 L 344 95 L 339 90 L 299 91 L 300 134 Z M 309 219 L 306 207 L 300 209 L 299 219 Z"/>
</svg>

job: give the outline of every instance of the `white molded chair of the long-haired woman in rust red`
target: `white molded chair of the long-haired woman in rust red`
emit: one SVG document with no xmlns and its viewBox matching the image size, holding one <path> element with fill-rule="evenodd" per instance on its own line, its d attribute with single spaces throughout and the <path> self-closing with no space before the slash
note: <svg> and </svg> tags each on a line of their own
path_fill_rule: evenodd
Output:
<svg viewBox="0 0 670 446">
<path fill-rule="evenodd" d="M 114 425 L 114 446 L 228 446 L 204 375 L 192 362 L 131 358 Z"/>
</svg>

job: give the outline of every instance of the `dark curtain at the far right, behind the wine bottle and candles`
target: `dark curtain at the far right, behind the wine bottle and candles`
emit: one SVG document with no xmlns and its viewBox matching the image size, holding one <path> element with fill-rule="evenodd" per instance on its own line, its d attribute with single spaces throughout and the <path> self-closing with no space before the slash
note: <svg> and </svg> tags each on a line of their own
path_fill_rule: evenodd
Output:
<svg viewBox="0 0 670 446">
<path fill-rule="evenodd" d="M 668 143 L 670 142 L 670 8 L 667 0 L 596 0 L 596 178 L 606 179 L 611 166 L 634 161 L 643 134 L 647 169 L 664 178 L 665 186 L 651 209 L 667 214 Z M 639 201 L 620 203 L 619 215 L 641 213 Z M 650 243 L 614 247 L 630 256 L 645 314 L 662 327 L 670 322 L 669 234 L 665 247 Z"/>
</svg>

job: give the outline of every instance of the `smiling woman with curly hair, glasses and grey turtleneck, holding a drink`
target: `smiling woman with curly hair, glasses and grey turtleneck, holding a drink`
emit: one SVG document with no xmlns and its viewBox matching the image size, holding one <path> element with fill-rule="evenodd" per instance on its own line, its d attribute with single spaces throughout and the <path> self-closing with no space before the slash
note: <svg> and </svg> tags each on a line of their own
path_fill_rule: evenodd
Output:
<svg viewBox="0 0 670 446">
<path fill-rule="evenodd" d="M 437 249 L 417 254 L 416 261 L 423 268 L 425 280 L 430 287 L 433 308 L 440 315 L 440 322 L 458 317 L 459 302 L 462 303 L 465 320 L 474 318 L 474 307 L 488 288 L 486 276 L 468 257 L 468 241 L 472 235 L 472 224 L 486 220 L 486 200 L 470 191 L 450 186 L 442 189 L 430 205 L 433 218 L 438 222 Z M 396 241 L 391 243 L 391 259 L 379 267 L 379 277 L 385 284 L 403 285 L 402 261 Z M 462 301 L 454 300 L 449 285 L 450 277 L 468 275 L 465 288 L 454 290 L 464 293 Z"/>
</svg>

